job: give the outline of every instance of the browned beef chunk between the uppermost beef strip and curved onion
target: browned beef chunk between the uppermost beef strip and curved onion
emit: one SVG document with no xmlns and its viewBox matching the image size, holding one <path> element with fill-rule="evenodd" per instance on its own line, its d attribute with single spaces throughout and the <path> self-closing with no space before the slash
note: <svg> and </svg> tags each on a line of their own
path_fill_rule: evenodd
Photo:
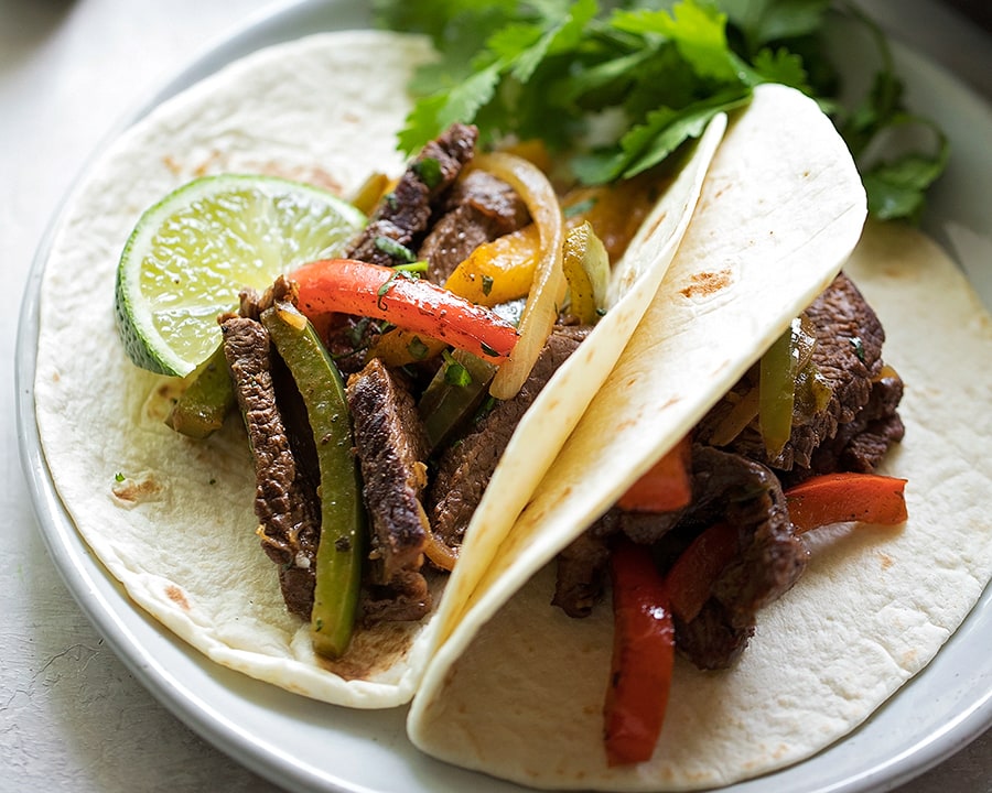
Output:
<svg viewBox="0 0 992 793">
<path fill-rule="evenodd" d="M 431 226 L 418 258 L 427 260 L 428 278 L 443 284 L 478 246 L 510 233 L 530 219 L 514 189 L 486 173 L 472 171 L 452 186 L 444 214 Z"/>
</svg>

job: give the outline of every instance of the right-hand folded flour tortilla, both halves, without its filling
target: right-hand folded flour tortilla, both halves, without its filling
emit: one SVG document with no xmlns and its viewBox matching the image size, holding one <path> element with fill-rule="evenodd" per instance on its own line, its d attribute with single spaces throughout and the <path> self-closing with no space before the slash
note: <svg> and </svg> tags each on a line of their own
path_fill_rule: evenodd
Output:
<svg viewBox="0 0 992 793">
<path fill-rule="evenodd" d="M 934 243 L 869 226 L 844 269 L 877 311 L 886 361 L 906 382 L 907 435 L 882 472 L 908 478 L 909 521 L 810 535 L 808 572 L 761 612 L 740 661 L 705 673 L 679 659 L 654 758 L 607 768 L 612 609 L 608 597 L 587 619 L 552 607 L 551 561 L 699 421 L 858 241 L 860 221 L 833 226 L 856 216 L 853 176 L 820 171 L 821 146 L 841 153 L 784 90 L 768 89 L 772 104 L 759 91 L 732 122 L 640 327 L 452 622 L 408 719 L 422 750 L 536 787 L 731 784 L 854 729 L 981 596 L 992 575 L 992 417 L 981 409 L 992 374 L 979 362 L 992 360 L 992 321 Z M 718 293 L 697 289 L 723 272 Z M 575 488 L 572 466 L 599 478 Z"/>
</svg>

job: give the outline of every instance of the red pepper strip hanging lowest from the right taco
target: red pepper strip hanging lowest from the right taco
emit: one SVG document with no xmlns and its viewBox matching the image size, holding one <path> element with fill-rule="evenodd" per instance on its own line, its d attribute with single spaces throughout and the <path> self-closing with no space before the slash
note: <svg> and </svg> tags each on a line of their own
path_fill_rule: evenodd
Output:
<svg viewBox="0 0 992 793">
<path fill-rule="evenodd" d="M 671 688 L 675 628 L 665 580 L 650 551 L 624 541 L 610 560 L 613 663 L 603 707 L 611 767 L 651 757 Z"/>
</svg>

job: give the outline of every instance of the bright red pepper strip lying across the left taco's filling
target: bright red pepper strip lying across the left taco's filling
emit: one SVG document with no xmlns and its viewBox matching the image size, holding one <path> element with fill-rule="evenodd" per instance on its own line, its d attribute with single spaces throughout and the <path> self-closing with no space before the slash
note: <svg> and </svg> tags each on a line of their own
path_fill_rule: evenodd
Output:
<svg viewBox="0 0 992 793">
<path fill-rule="evenodd" d="M 314 322 L 331 313 L 385 319 L 500 363 L 517 330 L 497 314 L 401 271 L 354 259 L 304 264 L 290 278 L 300 286 L 300 311 Z"/>
</svg>

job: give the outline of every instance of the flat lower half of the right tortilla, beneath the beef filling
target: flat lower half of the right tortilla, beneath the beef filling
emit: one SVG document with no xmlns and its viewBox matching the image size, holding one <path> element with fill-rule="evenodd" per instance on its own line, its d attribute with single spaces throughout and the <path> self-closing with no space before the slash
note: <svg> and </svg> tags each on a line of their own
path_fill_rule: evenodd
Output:
<svg viewBox="0 0 992 793">
<path fill-rule="evenodd" d="M 992 372 L 980 363 L 992 360 L 992 317 L 953 262 L 905 227 L 869 225 L 844 270 L 906 383 L 906 437 L 881 472 L 908 478 L 908 522 L 808 535 L 809 568 L 758 615 L 731 670 L 677 659 L 654 758 L 628 768 L 608 769 L 602 746 L 608 596 L 589 619 L 570 619 L 550 606 L 546 565 L 488 622 L 470 617 L 455 631 L 454 661 L 439 655 L 414 700 L 420 748 L 536 787 L 718 787 L 828 747 L 934 658 L 992 576 L 992 416 L 982 410 Z"/>
</svg>

